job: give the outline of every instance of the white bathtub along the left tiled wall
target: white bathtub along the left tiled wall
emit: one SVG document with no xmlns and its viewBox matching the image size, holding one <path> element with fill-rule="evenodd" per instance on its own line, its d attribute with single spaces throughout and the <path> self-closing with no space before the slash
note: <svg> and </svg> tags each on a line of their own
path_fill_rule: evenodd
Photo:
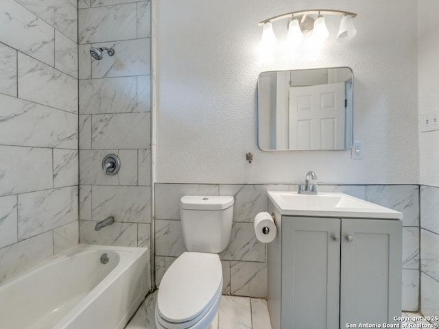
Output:
<svg viewBox="0 0 439 329">
<path fill-rule="evenodd" d="M 122 329 L 150 288 L 149 260 L 147 248 L 78 245 L 0 286 L 0 327 Z"/>
</svg>

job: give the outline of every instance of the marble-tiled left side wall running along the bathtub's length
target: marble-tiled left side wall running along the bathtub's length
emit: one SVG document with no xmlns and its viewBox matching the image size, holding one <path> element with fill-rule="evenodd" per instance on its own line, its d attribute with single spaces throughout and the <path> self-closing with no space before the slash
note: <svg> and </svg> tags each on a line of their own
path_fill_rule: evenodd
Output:
<svg viewBox="0 0 439 329">
<path fill-rule="evenodd" d="M 0 282 L 78 243 L 75 1 L 2 0 Z"/>
</svg>

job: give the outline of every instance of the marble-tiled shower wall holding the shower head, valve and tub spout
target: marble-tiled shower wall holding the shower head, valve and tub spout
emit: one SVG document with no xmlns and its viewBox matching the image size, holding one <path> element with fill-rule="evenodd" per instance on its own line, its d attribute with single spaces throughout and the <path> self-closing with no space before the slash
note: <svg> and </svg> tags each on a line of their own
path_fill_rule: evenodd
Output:
<svg viewBox="0 0 439 329">
<path fill-rule="evenodd" d="M 150 15 L 150 1 L 78 2 L 82 243 L 150 247 Z M 115 54 L 95 60 L 90 47 Z M 113 176 L 102 171 L 110 153 L 121 160 Z M 108 216 L 115 223 L 95 231 Z"/>
</svg>

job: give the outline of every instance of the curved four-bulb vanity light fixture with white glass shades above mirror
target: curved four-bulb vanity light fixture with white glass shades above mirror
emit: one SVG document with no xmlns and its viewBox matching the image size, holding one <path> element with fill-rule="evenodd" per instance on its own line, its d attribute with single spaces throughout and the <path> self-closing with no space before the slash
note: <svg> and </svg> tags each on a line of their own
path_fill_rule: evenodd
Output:
<svg viewBox="0 0 439 329">
<path fill-rule="evenodd" d="M 316 18 L 311 17 L 315 15 Z M 342 16 L 340 27 L 338 29 L 337 38 L 349 39 L 357 34 L 357 30 L 352 19 L 357 16 L 353 12 L 345 12 L 342 10 L 313 9 L 300 10 L 298 12 L 289 12 L 281 14 L 261 21 L 258 25 L 263 26 L 261 38 L 261 47 L 272 47 L 276 36 L 274 36 L 272 22 L 281 19 L 290 19 L 288 23 L 287 42 L 290 45 L 297 45 L 303 38 L 303 34 L 312 31 L 312 38 L 316 41 L 324 41 L 329 36 L 327 25 L 324 21 L 324 15 Z"/>
</svg>

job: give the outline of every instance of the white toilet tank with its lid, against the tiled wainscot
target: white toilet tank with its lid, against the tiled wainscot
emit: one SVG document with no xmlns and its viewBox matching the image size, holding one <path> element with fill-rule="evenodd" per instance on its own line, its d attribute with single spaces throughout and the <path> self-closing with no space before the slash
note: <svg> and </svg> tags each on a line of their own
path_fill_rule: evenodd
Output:
<svg viewBox="0 0 439 329">
<path fill-rule="evenodd" d="M 232 232 L 233 197 L 185 195 L 180 199 L 183 240 L 188 252 L 217 254 Z"/>
</svg>

